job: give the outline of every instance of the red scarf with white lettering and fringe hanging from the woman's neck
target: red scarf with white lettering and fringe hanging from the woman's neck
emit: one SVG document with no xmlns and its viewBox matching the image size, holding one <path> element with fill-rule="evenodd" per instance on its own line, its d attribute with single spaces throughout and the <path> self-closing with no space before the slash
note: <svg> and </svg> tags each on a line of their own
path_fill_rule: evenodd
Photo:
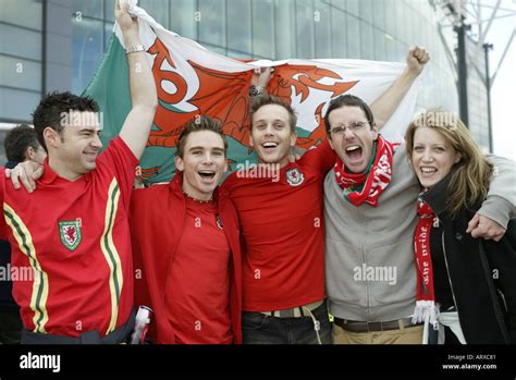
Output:
<svg viewBox="0 0 516 380">
<path fill-rule="evenodd" d="M 426 191 L 425 191 L 426 192 Z M 439 310 L 435 307 L 435 293 L 433 291 L 433 267 L 432 255 L 430 253 L 430 231 L 432 225 L 439 223 L 439 219 L 430 208 L 430 206 L 422 200 L 419 194 L 417 213 L 419 220 L 417 222 L 416 231 L 414 233 L 414 250 L 416 256 L 416 271 L 417 271 L 417 294 L 416 294 L 416 309 L 413 316 L 413 322 L 428 321 L 433 324 L 434 329 L 438 324 Z"/>
</svg>

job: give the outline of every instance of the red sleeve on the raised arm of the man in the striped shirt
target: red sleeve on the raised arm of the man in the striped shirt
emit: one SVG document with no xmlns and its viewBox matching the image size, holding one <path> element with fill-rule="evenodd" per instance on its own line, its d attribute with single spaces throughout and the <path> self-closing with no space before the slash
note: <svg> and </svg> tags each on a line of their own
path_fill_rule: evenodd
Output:
<svg viewBox="0 0 516 380">
<path fill-rule="evenodd" d="M 97 159 L 99 175 L 114 174 L 116 177 L 122 201 L 126 208 L 130 205 L 137 164 L 138 159 L 120 136 L 112 139 L 108 148 Z"/>
</svg>

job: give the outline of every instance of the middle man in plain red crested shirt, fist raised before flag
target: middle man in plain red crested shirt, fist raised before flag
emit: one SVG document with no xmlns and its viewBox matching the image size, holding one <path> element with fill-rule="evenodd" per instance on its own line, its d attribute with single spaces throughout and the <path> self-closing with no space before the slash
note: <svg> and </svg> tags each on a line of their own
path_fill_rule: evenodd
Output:
<svg viewBox="0 0 516 380">
<path fill-rule="evenodd" d="M 411 48 L 407 69 L 371 109 L 383 124 L 428 62 Z M 335 154 L 321 143 L 290 163 L 296 117 L 283 101 L 263 96 L 251 108 L 250 144 L 258 168 L 224 182 L 242 223 L 243 342 L 331 343 L 324 303 L 323 181 Z"/>
</svg>

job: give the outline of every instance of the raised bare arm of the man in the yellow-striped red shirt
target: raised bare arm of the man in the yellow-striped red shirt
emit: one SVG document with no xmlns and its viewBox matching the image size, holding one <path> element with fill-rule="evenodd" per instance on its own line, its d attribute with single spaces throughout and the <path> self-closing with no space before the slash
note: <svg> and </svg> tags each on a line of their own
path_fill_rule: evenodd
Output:
<svg viewBox="0 0 516 380">
<path fill-rule="evenodd" d="M 158 107 L 158 95 L 147 57 L 138 34 L 138 20 L 131 17 L 127 12 L 127 1 L 116 1 L 114 15 L 122 29 L 127 51 L 130 72 L 131 100 L 133 108 L 125 118 L 120 137 L 127 144 L 131 151 L 140 158 L 150 126 Z M 131 52 L 134 50 L 133 52 Z"/>
</svg>

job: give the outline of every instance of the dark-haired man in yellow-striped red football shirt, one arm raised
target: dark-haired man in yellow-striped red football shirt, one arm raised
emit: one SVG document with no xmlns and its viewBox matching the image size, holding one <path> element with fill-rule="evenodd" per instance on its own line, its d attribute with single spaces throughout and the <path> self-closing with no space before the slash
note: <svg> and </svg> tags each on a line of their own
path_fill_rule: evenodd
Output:
<svg viewBox="0 0 516 380">
<path fill-rule="evenodd" d="M 137 20 L 126 3 L 116 3 L 115 16 L 133 103 L 120 136 L 98 156 L 96 102 L 52 93 L 34 112 L 48 152 L 37 192 L 17 192 L 0 173 L 0 237 L 12 246 L 13 268 L 25 273 L 13 284 L 22 343 L 120 343 L 134 323 L 127 212 L 157 94 Z"/>
</svg>

